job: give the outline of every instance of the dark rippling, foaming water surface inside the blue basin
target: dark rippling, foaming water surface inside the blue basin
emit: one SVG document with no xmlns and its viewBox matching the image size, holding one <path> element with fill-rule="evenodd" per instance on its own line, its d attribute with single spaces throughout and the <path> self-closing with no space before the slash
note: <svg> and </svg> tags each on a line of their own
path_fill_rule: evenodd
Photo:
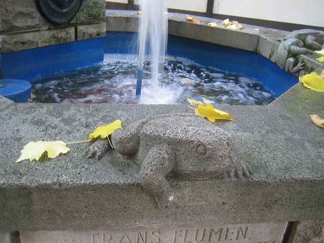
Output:
<svg viewBox="0 0 324 243">
<path fill-rule="evenodd" d="M 149 84 L 150 61 L 144 63 L 143 88 L 135 100 L 137 57 L 105 55 L 95 66 L 41 80 L 32 87 L 31 102 L 186 104 L 206 98 L 216 104 L 267 105 L 275 95 L 258 80 L 203 67 L 187 59 L 167 57 L 159 74 L 158 93 Z"/>
</svg>

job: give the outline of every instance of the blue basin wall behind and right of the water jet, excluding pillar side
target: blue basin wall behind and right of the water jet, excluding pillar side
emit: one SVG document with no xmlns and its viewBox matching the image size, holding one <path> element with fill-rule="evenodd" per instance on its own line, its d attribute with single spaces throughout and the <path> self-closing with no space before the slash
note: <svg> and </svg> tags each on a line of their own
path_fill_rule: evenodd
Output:
<svg viewBox="0 0 324 243">
<path fill-rule="evenodd" d="M 107 32 L 105 53 L 137 54 L 134 40 L 137 40 L 137 33 Z M 298 83 L 295 75 L 282 70 L 256 52 L 169 35 L 167 54 L 188 58 L 203 66 L 255 78 L 277 97 Z"/>
</svg>

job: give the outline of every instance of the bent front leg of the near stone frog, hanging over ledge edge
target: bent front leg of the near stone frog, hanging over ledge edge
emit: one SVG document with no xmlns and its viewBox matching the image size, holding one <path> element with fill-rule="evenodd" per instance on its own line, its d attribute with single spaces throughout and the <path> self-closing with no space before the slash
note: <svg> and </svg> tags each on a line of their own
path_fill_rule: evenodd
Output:
<svg viewBox="0 0 324 243">
<path fill-rule="evenodd" d="M 175 158 L 167 146 L 154 146 L 143 161 L 139 183 L 155 197 L 159 208 L 167 207 L 175 199 L 165 178 L 174 167 Z"/>
</svg>

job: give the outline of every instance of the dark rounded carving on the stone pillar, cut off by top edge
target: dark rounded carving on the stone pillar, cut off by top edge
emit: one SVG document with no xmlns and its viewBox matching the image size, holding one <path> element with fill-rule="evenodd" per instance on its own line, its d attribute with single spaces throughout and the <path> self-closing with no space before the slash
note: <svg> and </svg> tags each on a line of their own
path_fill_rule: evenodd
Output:
<svg viewBox="0 0 324 243">
<path fill-rule="evenodd" d="M 82 0 L 35 0 L 38 11 L 50 23 L 68 23 L 79 10 Z"/>
</svg>

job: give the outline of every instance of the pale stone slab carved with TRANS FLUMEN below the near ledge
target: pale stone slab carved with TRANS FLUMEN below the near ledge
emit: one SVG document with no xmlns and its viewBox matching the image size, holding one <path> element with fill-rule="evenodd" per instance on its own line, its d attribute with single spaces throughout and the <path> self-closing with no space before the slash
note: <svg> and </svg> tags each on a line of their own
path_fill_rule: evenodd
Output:
<svg viewBox="0 0 324 243">
<path fill-rule="evenodd" d="M 271 242 L 281 243 L 287 222 L 105 231 L 23 231 L 21 243 Z"/>
</svg>

